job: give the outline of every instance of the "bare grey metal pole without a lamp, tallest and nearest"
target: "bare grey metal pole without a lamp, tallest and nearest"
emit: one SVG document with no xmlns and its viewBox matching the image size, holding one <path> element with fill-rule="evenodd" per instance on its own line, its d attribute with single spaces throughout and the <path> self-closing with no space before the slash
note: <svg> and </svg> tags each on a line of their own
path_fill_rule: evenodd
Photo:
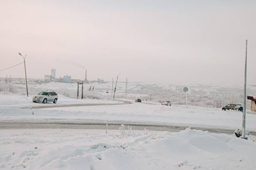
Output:
<svg viewBox="0 0 256 170">
<path fill-rule="evenodd" d="M 246 71 L 247 71 L 247 40 L 245 46 L 245 81 L 244 81 L 244 108 L 243 108 L 243 128 L 242 128 L 242 138 L 245 138 L 245 118 L 246 118 Z"/>
</svg>

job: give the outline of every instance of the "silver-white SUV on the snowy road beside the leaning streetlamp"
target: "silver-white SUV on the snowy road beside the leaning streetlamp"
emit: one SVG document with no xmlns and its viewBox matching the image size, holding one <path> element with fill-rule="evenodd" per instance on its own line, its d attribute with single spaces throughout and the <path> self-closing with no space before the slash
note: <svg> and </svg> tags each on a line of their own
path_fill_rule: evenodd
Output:
<svg viewBox="0 0 256 170">
<path fill-rule="evenodd" d="M 42 91 L 38 95 L 33 96 L 32 101 L 38 103 L 53 102 L 57 103 L 58 95 L 56 92 Z"/>
</svg>

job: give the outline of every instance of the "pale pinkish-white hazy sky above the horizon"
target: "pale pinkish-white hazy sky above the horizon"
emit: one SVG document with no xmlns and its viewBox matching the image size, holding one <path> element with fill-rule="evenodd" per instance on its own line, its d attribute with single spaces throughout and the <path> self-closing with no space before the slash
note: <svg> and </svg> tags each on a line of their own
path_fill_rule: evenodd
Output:
<svg viewBox="0 0 256 170">
<path fill-rule="evenodd" d="M 256 0 L 0 0 L 0 70 L 28 78 L 242 84 L 245 39 L 256 84 Z"/>
</svg>

